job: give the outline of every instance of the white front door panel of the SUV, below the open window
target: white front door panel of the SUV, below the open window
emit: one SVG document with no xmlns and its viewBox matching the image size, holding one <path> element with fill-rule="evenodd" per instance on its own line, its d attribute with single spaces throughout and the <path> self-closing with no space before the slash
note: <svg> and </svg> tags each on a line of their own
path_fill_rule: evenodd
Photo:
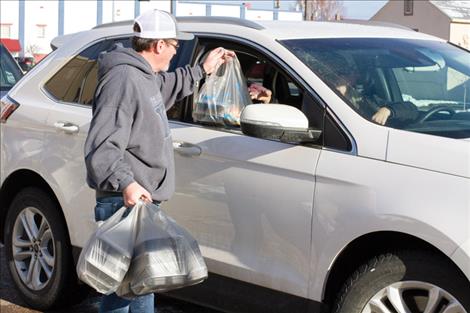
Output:
<svg viewBox="0 0 470 313">
<path fill-rule="evenodd" d="M 222 45 L 199 41 L 206 51 Z M 321 150 L 198 124 L 190 115 L 170 121 L 176 193 L 164 209 L 196 237 L 211 272 L 306 297 Z"/>
</svg>

